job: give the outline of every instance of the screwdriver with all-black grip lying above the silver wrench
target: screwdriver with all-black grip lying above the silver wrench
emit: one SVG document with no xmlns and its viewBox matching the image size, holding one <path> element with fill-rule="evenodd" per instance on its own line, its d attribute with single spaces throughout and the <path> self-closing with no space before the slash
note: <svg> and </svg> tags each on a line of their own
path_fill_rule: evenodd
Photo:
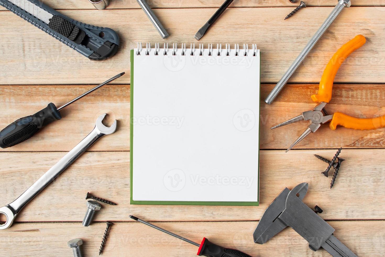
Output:
<svg viewBox="0 0 385 257">
<path fill-rule="evenodd" d="M 55 104 L 50 102 L 48 106 L 37 113 L 20 118 L 13 123 L 9 124 L 6 128 L 0 131 L 0 147 L 8 148 L 11 146 L 15 146 L 17 144 L 22 143 L 23 141 L 31 138 L 34 134 L 36 134 L 42 127 L 46 126 L 53 121 L 57 121 L 62 118 L 60 115 L 60 110 L 69 106 L 73 102 L 76 102 L 80 98 L 87 96 L 87 94 L 94 92 L 105 84 L 114 81 L 115 79 L 124 75 L 125 72 L 117 74 L 116 76 L 110 78 L 107 81 L 104 81 L 99 86 L 94 87 L 90 91 L 85 92 L 81 96 L 76 97 L 70 102 L 67 102 L 63 106 L 56 108 Z"/>
</svg>

